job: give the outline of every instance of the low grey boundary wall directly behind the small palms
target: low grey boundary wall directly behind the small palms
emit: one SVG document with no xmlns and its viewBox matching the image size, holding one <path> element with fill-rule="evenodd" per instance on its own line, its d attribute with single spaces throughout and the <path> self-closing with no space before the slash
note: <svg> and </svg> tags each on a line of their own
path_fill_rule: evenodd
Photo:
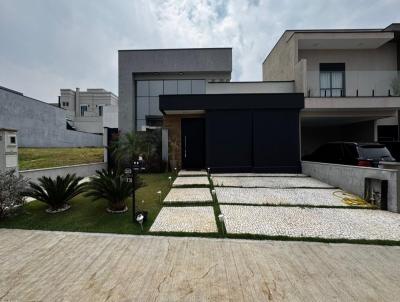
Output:
<svg viewBox="0 0 400 302">
<path fill-rule="evenodd" d="M 37 182 L 38 178 L 47 176 L 56 178 L 57 176 L 65 176 L 67 174 L 76 174 L 76 176 L 87 177 L 96 174 L 97 170 L 106 169 L 107 163 L 93 163 L 84 165 L 63 166 L 56 168 L 24 170 L 19 173 L 28 178 L 29 181 Z"/>
</svg>

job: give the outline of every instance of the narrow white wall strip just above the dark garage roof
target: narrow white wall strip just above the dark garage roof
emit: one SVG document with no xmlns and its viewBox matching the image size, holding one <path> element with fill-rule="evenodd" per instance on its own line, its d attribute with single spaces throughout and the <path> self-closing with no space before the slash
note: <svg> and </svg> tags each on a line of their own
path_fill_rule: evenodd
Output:
<svg viewBox="0 0 400 302">
<path fill-rule="evenodd" d="M 229 82 L 207 83 L 207 94 L 293 93 L 294 82 Z"/>
</svg>

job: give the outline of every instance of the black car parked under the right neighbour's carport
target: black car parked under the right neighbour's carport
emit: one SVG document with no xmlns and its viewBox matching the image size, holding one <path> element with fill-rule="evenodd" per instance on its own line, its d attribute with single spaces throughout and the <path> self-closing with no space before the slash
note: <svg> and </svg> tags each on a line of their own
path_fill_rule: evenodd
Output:
<svg viewBox="0 0 400 302">
<path fill-rule="evenodd" d="M 302 159 L 364 167 L 377 167 L 380 161 L 396 161 L 382 144 L 354 142 L 327 143 Z"/>
</svg>

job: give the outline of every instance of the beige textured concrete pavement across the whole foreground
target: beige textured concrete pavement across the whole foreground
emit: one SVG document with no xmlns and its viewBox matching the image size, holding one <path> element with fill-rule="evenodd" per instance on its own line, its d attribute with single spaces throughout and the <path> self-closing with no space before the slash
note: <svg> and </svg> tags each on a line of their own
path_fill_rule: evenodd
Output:
<svg viewBox="0 0 400 302">
<path fill-rule="evenodd" d="M 0 301 L 393 301 L 400 247 L 0 229 Z"/>
</svg>

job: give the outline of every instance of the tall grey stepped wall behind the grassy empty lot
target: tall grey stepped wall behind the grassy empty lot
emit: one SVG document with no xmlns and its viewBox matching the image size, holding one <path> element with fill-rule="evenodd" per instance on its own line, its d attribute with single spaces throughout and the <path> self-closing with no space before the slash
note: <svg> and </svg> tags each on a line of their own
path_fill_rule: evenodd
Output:
<svg viewBox="0 0 400 302">
<path fill-rule="evenodd" d="M 66 129 L 66 110 L 0 88 L 0 128 L 18 130 L 20 147 L 102 146 L 102 136 Z"/>
</svg>

